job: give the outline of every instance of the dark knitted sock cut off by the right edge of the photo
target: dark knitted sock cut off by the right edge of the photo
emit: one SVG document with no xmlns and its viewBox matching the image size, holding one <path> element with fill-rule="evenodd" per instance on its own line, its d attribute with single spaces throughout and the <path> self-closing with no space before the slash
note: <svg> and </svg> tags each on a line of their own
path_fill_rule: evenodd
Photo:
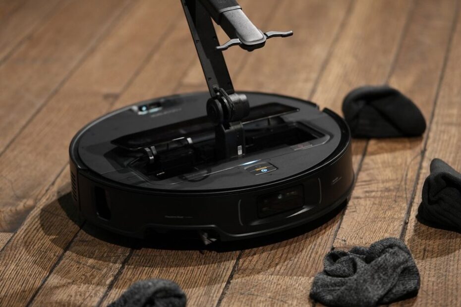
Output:
<svg viewBox="0 0 461 307">
<path fill-rule="evenodd" d="M 427 226 L 461 233 L 461 173 L 441 159 L 433 159 L 430 170 L 416 218 Z"/>
</svg>

